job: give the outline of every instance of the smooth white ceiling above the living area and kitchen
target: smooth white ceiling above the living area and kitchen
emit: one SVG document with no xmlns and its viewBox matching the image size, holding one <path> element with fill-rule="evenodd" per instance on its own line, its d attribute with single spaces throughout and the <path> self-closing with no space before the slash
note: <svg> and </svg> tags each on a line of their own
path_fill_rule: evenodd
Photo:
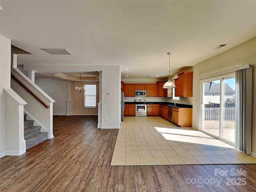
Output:
<svg viewBox="0 0 256 192">
<path fill-rule="evenodd" d="M 18 64 L 120 65 L 122 78 L 166 77 L 167 52 L 174 73 L 256 36 L 255 0 L 1 0 L 0 5 L 1 35 L 32 54 L 18 56 Z M 228 45 L 214 49 L 220 44 Z M 40 48 L 66 48 L 73 55 Z"/>
</svg>

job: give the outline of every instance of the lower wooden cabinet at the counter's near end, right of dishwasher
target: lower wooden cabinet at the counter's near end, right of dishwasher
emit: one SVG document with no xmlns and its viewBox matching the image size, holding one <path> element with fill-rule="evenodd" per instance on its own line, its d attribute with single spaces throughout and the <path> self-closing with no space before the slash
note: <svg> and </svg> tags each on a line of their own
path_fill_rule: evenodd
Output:
<svg viewBox="0 0 256 192">
<path fill-rule="evenodd" d="M 173 108 L 172 122 L 181 127 L 192 127 L 192 108 Z"/>
</svg>

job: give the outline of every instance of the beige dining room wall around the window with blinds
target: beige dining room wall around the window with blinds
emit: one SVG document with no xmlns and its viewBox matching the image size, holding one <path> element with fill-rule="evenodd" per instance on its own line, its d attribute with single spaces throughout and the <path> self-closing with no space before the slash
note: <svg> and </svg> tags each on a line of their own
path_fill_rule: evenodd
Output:
<svg viewBox="0 0 256 192">
<path fill-rule="evenodd" d="M 97 86 L 97 98 L 96 103 L 99 102 L 99 82 L 82 82 L 84 84 L 96 84 Z M 71 114 L 72 115 L 98 115 L 98 106 L 96 108 L 84 108 L 84 93 L 75 92 L 75 87 L 79 87 L 80 82 L 70 82 L 71 90 Z"/>
</svg>

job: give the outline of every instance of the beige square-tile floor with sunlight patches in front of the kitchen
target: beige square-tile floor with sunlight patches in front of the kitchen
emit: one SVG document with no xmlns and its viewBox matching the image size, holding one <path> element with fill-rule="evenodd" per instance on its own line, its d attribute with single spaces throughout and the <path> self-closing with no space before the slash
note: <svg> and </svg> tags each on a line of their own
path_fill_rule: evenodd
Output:
<svg viewBox="0 0 256 192">
<path fill-rule="evenodd" d="M 125 116 L 111 166 L 250 164 L 254 156 L 193 128 L 179 128 L 159 116 Z"/>
</svg>

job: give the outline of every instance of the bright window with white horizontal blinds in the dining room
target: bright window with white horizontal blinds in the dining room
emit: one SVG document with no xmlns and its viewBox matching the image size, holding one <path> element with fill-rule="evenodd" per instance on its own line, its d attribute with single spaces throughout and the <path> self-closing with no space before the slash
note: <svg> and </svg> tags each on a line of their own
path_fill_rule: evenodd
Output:
<svg viewBox="0 0 256 192">
<path fill-rule="evenodd" d="M 84 85 L 84 107 L 96 107 L 96 85 Z"/>
</svg>

